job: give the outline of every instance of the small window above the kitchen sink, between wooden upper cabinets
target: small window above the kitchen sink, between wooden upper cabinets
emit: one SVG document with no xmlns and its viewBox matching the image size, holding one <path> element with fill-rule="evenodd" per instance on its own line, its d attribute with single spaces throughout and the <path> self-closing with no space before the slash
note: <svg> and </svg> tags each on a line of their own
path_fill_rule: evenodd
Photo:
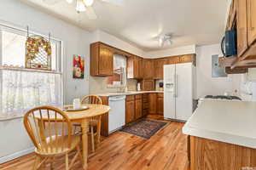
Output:
<svg viewBox="0 0 256 170">
<path fill-rule="evenodd" d="M 113 54 L 113 76 L 108 77 L 108 88 L 124 88 L 126 85 L 126 57 Z"/>
</svg>

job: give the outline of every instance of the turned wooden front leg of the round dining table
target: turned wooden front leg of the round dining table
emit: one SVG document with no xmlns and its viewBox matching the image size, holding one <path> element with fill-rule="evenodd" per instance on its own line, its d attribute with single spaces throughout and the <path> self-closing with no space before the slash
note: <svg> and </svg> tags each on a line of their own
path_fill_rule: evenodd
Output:
<svg viewBox="0 0 256 170">
<path fill-rule="evenodd" d="M 81 122 L 82 127 L 82 145 L 83 145 L 83 159 L 84 159 L 84 169 L 87 169 L 87 159 L 88 159 L 88 132 L 89 132 L 89 122 L 88 119 L 84 119 Z"/>
</svg>

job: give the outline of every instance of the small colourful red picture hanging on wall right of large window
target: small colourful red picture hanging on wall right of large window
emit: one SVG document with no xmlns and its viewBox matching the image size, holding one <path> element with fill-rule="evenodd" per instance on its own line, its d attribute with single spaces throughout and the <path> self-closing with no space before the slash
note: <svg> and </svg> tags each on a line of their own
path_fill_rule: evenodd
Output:
<svg viewBox="0 0 256 170">
<path fill-rule="evenodd" d="M 73 55 L 73 78 L 84 78 L 84 57 Z"/>
</svg>

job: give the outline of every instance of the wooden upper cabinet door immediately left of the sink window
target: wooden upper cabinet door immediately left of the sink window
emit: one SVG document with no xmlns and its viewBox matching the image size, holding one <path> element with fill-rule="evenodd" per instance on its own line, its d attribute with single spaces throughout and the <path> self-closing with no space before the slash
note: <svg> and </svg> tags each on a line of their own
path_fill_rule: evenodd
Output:
<svg viewBox="0 0 256 170">
<path fill-rule="evenodd" d="M 100 75 L 113 75 L 113 53 L 109 48 L 101 46 L 98 62 Z"/>
</svg>

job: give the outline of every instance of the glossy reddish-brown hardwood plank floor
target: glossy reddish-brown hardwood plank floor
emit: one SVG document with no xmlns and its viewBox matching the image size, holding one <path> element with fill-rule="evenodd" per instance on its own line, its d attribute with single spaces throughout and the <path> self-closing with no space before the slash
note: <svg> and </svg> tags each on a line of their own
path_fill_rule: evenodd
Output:
<svg viewBox="0 0 256 170">
<path fill-rule="evenodd" d="M 187 136 L 182 127 L 181 122 L 170 122 L 148 140 L 128 133 L 113 133 L 90 155 L 88 170 L 188 170 Z M 30 154 L 2 164 L 0 169 L 29 170 L 33 161 L 34 155 Z M 64 169 L 64 163 L 56 163 L 54 167 Z M 73 169 L 82 169 L 81 163 L 76 162 Z"/>
</svg>

